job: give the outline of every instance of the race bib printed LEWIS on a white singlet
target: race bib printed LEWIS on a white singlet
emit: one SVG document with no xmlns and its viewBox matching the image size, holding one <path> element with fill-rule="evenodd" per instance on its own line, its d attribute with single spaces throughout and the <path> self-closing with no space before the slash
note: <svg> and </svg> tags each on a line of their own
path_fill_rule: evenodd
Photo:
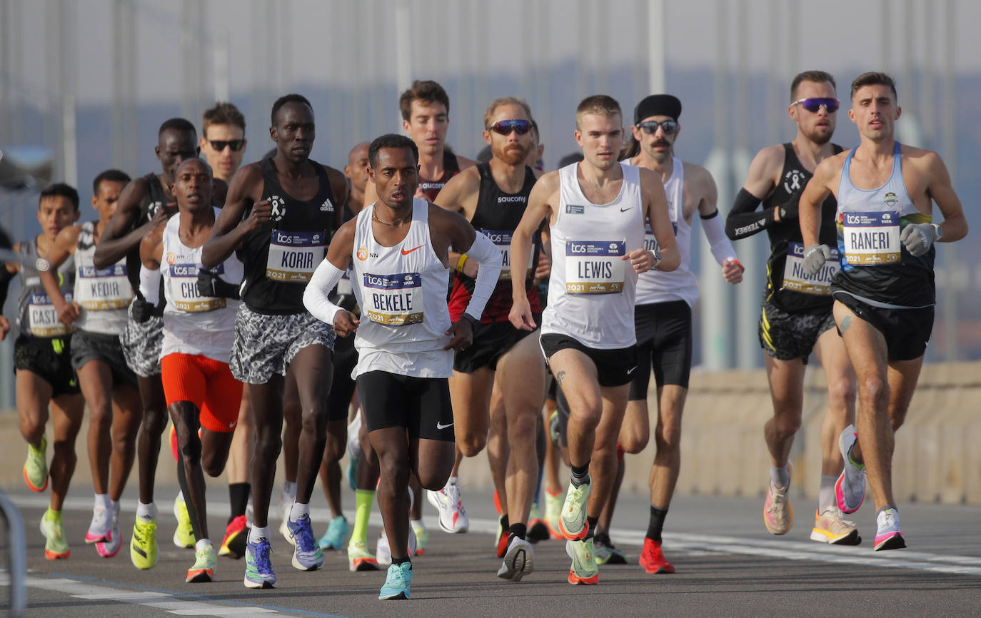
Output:
<svg viewBox="0 0 981 618">
<path fill-rule="evenodd" d="M 568 240 L 565 243 L 565 291 L 570 294 L 618 294 L 623 291 L 622 240 Z"/>
</svg>

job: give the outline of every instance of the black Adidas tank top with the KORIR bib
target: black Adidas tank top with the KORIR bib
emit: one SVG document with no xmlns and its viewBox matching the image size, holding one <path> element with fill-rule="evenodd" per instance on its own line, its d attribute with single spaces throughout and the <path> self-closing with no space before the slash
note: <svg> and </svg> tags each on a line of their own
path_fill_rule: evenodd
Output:
<svg viewBox="0 0 981 618">
<path fill-rule="evenodd" d="M 276 178 L 272 159 L 263 159 L 262 199 L 273 205 L 273 218 L 242 240 L 242 300 L 249 309 L 264 314 L 306 311 L 303 290 L 324 259 L 331 241 L 335 200 L 324 167 L 312 159 L 320 188 L 313 199 L 290 197 Z M 249 205 L 245 217 L 251 212 Z"/>
</svg>

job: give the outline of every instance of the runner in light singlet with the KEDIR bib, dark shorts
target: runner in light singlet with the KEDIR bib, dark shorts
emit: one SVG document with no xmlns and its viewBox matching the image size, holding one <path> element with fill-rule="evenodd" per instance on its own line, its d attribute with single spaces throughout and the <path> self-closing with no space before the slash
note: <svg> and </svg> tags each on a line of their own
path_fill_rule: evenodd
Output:
<svg viewBox="0 0 981 618">
<path fill-rule="evenodd" d="M 136 376 L 129 369 L 120 344 L 126 329 L 132 289 L 126 258 L 107 269 L 93 266 L 93 254 L 117 209 L 129 176 L 108 170 L 92 182 L 92 206 L 97 222 L 86 222 L 58 232 L 48 250 L 47 271 L 40 283 L 54 306 L 58 321 L 74 325 L 72 367 L 91 415 L 88 422 L 88 461 L 95 489 L 92 522 L 85 542 L 94 543 L 100 556 L 111 558 L 119 550 L 120 497 L 129 479 L 136 449 L 141 408 Z M 75 256 L 76 276 L 72 300 L 66 300 L 54 273 Z"/>
</svg>

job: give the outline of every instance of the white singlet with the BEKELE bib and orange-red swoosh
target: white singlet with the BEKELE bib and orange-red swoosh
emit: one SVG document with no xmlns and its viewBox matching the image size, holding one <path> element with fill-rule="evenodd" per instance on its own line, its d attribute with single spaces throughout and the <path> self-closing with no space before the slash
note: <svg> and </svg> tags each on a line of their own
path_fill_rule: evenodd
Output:
<svg viewBox="0 0 981 618">
<path fill-rule="evenodd" d="M 414 378 L 449 378 L 453 351 L 446 308 L 449 269 L 430 240 L 429 202 L 412 201 L 412 223 L 393 247 L 375 240 L 375 204 L 358 213 L 351 256 L 351 283 L 361 307 L 354 339 L 358 364 L 352 378 L 370 371 Z"/>
</svg>

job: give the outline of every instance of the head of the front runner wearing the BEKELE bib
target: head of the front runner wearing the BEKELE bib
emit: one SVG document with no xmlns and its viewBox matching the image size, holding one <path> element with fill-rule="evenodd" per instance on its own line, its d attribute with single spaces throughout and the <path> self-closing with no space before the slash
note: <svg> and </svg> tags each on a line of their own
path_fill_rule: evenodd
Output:
<svg viewBox="0 0 981 618">
<path fill-rule="evenodd" d="M 419 186 L 419 148 L 405 135 L 387 133 L 368 147 L 368 176 L 378 199 L 398 210 L 412 205 Z"/>
</svg>

